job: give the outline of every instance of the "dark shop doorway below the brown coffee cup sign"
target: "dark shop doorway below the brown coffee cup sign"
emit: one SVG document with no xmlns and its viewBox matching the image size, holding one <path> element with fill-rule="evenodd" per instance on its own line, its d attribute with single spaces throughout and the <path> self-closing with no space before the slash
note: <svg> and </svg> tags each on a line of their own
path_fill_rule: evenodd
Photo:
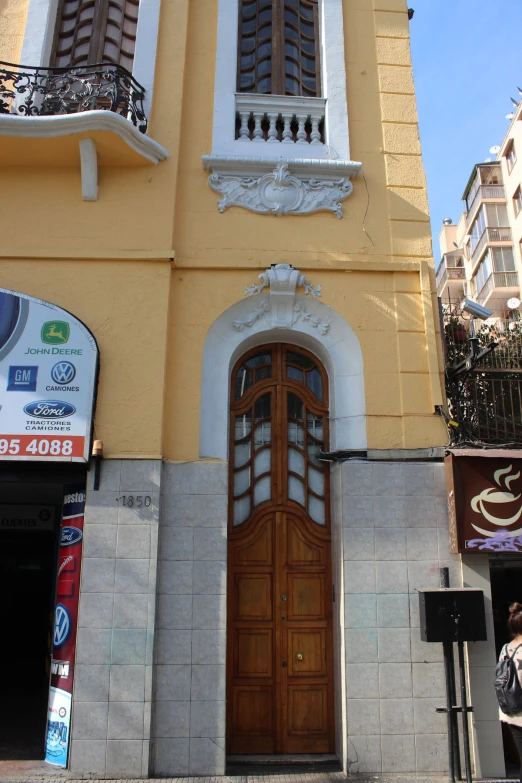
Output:
<svg viewBox="0 0 522 783">
<path fill-rule="evenodd" d="M 493 603 L 493 624 L 497 658 L 506 642 L 511 641 L 507 629 L 509 605 L 514 601 L 522 603 L 522 555 L 502 558 L 490 555 L 491 598 Z M 504 759 L 508 777 L 516 777 L 520 761 L 511 732 L 505 723 L 502 726 Z"/>
</svg>

